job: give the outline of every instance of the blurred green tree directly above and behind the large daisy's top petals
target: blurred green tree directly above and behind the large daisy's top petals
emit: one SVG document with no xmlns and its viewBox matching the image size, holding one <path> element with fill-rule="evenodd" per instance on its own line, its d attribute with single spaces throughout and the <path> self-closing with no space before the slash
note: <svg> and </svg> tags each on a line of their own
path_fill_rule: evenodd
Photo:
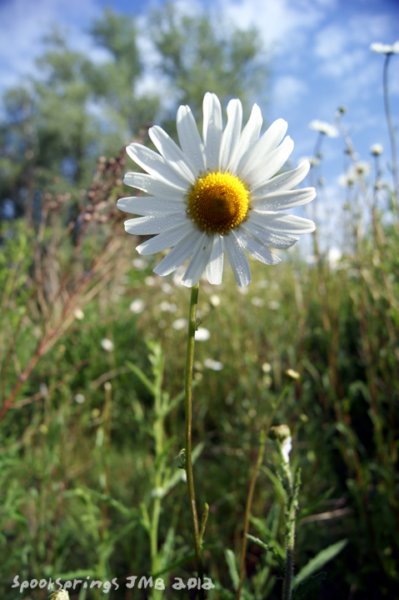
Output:
<svg viewBox="0 0 399 600">
<path fill-rule="evenodd" d="M 264 87 L 266 67 L 258 32 L 237 29 L 216 11 L 188 16 L 169 2 L 154 11 L 151 36 L 160 53 L 160 73 L 179 103 L 198 114 L 206 91 L 245 104 Z"/>
</svg>

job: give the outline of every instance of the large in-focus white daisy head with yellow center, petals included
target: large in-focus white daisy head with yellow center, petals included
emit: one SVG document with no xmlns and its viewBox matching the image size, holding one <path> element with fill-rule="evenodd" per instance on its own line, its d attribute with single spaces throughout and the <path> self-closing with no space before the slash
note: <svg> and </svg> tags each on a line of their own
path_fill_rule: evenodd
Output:
<svg viewBox="0 0 399 600">
<path fill-rule="evenodd" d="M 220 284 L 224 255 L 240 287 L 250 282 L 245 252 L 265 264 L 280 258 L 274 248 L 289 248 L 298 236 L 314 230 L 309 219 L 287 215 L 294 206 L 315 197 L 314 188 L 294 190 L 309 171 L 309 163 L 276 175 L 294 143 L 284 137 L 287 123 L 278 119 L 260 136 L 262 114 L 255 104 L 242 128 L 242 106 L 231 100 L 223 128 L 215 94 L 203 103 L 201 138 L 188 106 L 177 111 L 177 145 L 160 127 L 149 130 L 158 150 L 137 143 L 127 153 L 144 171 L 127 173 L 124 182 L 145 196 L 121 198 L 118 207 L 139 218 L 125 222 L 133 235 L 153 236 L 137 247 L 142 255 L 172 250 L 155 267 L 168 275 L 189 261 L 182 283 L 195 285 L 205 273 Z"/>
</svg>

